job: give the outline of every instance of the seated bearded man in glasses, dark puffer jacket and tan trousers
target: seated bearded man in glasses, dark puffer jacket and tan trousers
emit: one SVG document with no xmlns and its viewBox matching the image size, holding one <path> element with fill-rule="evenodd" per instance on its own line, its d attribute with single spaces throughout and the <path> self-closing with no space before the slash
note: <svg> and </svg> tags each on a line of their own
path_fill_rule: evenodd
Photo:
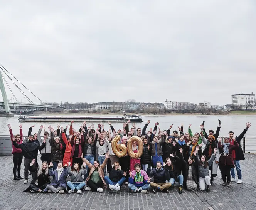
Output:
<svg viewBox="0 0 256 210">
<path fill-rule="evenodd" d="M 148 176 L 154 176 L 154 182 L 150 183 L 153 188 L 153 192 L 157 193 L 158 190 L 168 192 L 172 184 L 168 182 L 170 179 L 169 171 L 166 171 L 162 167 L 162 163 L 157 161 L 157 167 L 152 170 L 148 169 Z"/>
</svg>

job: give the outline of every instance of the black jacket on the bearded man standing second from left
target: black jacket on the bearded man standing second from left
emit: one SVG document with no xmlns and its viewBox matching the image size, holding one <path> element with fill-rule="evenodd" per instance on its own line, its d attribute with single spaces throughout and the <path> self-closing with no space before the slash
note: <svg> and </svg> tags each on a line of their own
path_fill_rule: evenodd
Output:
<svg viewBox="0 0 256 210">
<path fill-rule="evenodd" d="M 42 150 L 45 147 L 45 143 L 40 146 L 38 141 L 26 141 L 22 144 L 18 144 L 17 141 L 13 141 L 13 146 L 21 148 L 22 155 L 24 158 L 34 159 L 37 158 L 38 150 Z"/>
</svg>

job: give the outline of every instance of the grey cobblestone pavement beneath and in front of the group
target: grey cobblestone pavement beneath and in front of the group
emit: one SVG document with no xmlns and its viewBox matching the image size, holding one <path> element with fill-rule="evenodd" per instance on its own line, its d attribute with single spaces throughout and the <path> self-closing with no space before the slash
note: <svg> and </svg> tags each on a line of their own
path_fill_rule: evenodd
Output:
<svg viewBox="0 0 256 210">
<path fill-rule="evenodd" d="M 60 195 L 22 193 L 29 183 L 14 181 L 12 156 L 0 156 L 0 210 L 256 210 L 256 155 L 245 154 L 245 157 L 246 160 L 241 161 L 243 183 L 232 183 L 229 188 L 224 187 L 221 175 L 218 174 L 210 193 L 183 190 L 180 195 L 177 187 L 168 193 L 154 194 L 152 189 L 148 194 L 128 193 L 126 185 L 118 192 L 83 191 L 82 195 Z M 39 157 L 37 160 L 40 162 Z M 30 175 L 29 182 L 31 180 Z"/>
</svg>

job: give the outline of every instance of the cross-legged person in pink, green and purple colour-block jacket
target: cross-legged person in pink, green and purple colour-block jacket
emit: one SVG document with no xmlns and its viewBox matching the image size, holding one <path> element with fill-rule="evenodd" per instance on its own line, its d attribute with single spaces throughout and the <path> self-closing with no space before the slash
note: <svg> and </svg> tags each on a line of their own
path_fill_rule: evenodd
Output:
<svg viewBox="0 0 256 210">
<path fill-rule="evenodd" d="M 128 187 L 131 192 L 148 193 L 150 187 L 150 178 L 145 171 L 141 170 L 141 165 L 136 163 L 135 170 L 129 170 L 129 184 Z"/>
</svg>

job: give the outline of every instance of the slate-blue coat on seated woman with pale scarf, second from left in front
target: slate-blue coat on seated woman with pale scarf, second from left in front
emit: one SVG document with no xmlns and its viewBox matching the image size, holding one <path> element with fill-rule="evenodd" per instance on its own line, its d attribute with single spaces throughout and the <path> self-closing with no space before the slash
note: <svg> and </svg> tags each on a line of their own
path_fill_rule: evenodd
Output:
<svg viewBox="0 0 256 210">
<path fill-rule="evenodd" d="M 59 180 L 58 180 L 58 171 L 53 170 L 53 166 L 50 168 L 50 176 L 52 176 L 52 182 L 51 185 L 54 186 L 55 188 L 58 188 L 59 186 L 66 188 L 67 187 L 67 182 L 66 182 L 66 176 L 68 176 L 67 173 L 67 167 L 64 167 L 64 170 L 62 171 Z M 47 188 L 44 189 L 44 192 L 48 191 Z"/>
</svg>

